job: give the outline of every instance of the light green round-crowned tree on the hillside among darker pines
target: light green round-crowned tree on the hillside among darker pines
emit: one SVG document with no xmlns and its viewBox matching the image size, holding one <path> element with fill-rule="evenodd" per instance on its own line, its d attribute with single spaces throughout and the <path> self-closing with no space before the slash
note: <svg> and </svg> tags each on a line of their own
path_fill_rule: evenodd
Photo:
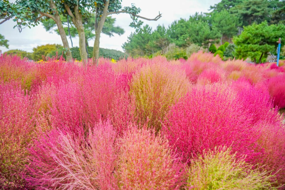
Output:
<svg viewBox="0 0 285 190">
<path fill-rule="evenodd" d="M 227 36 L 228 39 L 233 35 L 237 34 L 237 26 L 239 24 L 239 17 L 230 14 L 226 10 L 222 10 L 221 12 L 214 12 L 212 14 L 212 26 L 216 27 L 222 34 L 221 36 L 221 45 L 223 36 Z"/>
</svg>

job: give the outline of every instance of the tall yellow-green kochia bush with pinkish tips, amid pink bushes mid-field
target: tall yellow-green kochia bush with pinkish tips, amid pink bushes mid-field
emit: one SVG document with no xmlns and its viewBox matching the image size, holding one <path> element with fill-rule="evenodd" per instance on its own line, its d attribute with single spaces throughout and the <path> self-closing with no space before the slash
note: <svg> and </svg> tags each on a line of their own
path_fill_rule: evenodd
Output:
<svg viewBox="0 0 285 190">
<path fill-rule="evenodd" d="M 185 72 L 166 61 L 157 60 L 141 68 L 132 78 L 130 94 L 135 96 L 139 123 L 160 130 L 161 120 L 190 86 Z"/>
</svg>

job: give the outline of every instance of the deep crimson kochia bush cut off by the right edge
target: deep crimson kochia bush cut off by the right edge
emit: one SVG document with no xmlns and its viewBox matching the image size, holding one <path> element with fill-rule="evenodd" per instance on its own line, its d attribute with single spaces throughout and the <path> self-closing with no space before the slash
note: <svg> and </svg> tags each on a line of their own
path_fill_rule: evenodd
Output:
<svg viewBox="0 0 285 190">
<path fill-rule="evenodd" d="M 267 85 L 274 106 L 285 108 L 285 73 L 269 78 Z"/>
</svg>

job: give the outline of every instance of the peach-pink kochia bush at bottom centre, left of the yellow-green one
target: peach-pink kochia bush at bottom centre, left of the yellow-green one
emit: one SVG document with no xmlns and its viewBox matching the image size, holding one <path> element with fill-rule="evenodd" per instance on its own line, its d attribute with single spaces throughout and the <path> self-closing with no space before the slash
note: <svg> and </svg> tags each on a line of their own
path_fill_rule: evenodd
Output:
<svg viewBox="0 0 285 190">
<path fill-rule="evenodd" d="M 184 166 L 154 130 L 134 126 L 119 142 L 120 189 L 179 189 L 182 185 Z"/>
</svg>

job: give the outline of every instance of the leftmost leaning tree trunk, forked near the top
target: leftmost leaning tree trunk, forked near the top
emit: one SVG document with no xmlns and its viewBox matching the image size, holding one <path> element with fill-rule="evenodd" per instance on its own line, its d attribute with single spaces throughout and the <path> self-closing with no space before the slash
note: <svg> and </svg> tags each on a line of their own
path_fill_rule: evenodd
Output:
<svg viewBox="0 0 285 190">
<path fill-rule="evenodd" d="M 63 29 L 62 22 L 60 20 L 60 16 L 58 14 L 57 7 L 55 6 L 53 0 L 50 0 L 50 7 L 53 9 L 53 13 L 54 13 L 53 15 L 50 15 L 50 14 L 47 14 L 47 13 L 43 13 L 43 12 L 40 12 L 40 14 L 43 15 L 43 16 L 49 17 L 49 18 L 51 18 L 51 19 L 53 19 L 55 21 L 55 23 L 56 23 L 56 25 L 58 27 L 58 31 L 59 31 L 62 43 L 63 43 L 63 47 L 67 50 L 67 52 L 66 52 L 66 59 L 68 61 L 72 61 L 72 55 L 71 55 L 70 48 L 69 48 L 69 45 L 68 45 L 67 37 L 66 37 L 65 31 Z"/>
</svg>

